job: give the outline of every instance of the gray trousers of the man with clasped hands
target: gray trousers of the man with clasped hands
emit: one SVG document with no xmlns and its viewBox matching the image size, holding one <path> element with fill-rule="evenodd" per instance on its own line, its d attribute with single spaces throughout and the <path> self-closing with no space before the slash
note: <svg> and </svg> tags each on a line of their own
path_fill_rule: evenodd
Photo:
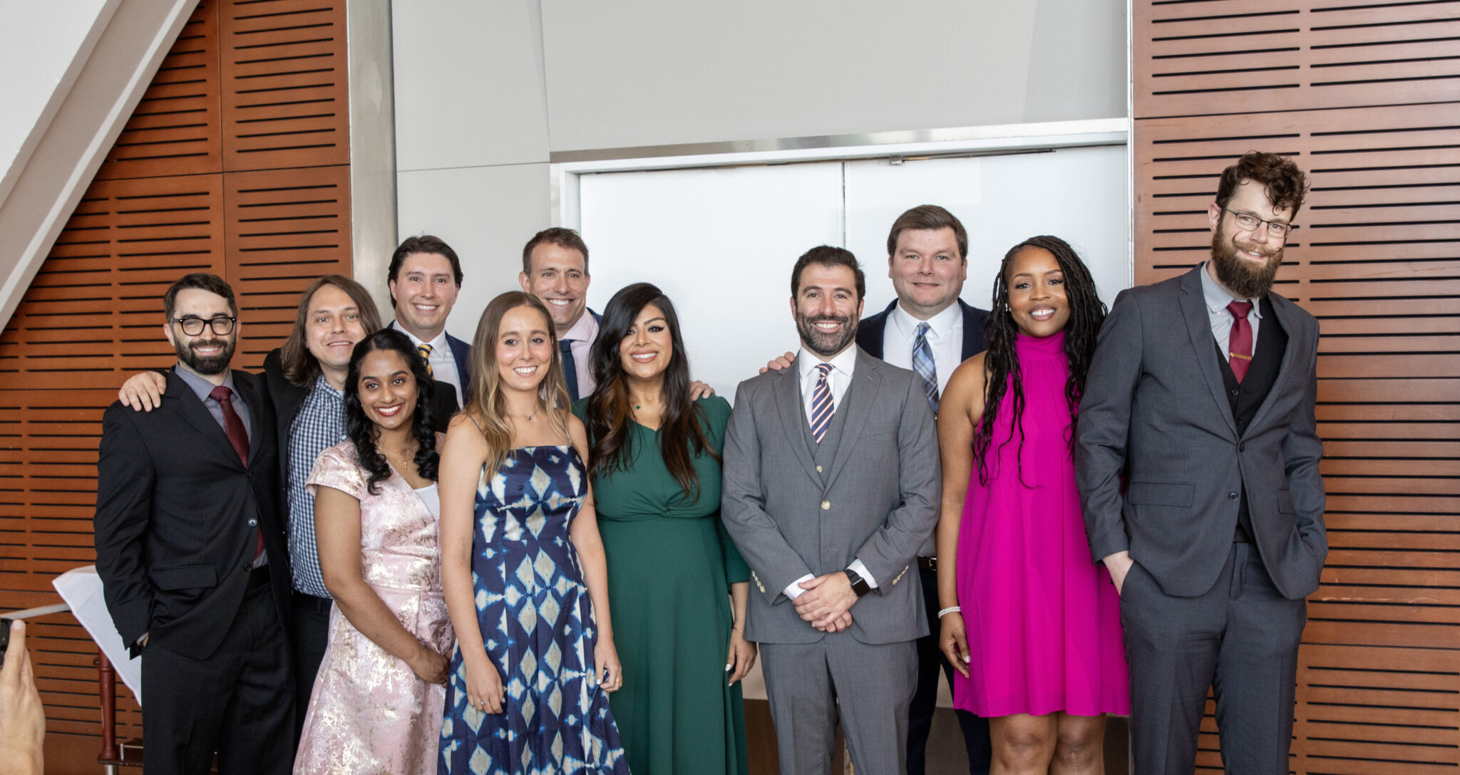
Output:
<svg viewBox="0 0 1460 775">
<path fill-rule="evenodd" d="M 783 775 L 831 775 L 837 708 L 857 775 L 902 775 L 917 641 L 869 645 L 848 632 L 761 644 Z"/>
</svg>

